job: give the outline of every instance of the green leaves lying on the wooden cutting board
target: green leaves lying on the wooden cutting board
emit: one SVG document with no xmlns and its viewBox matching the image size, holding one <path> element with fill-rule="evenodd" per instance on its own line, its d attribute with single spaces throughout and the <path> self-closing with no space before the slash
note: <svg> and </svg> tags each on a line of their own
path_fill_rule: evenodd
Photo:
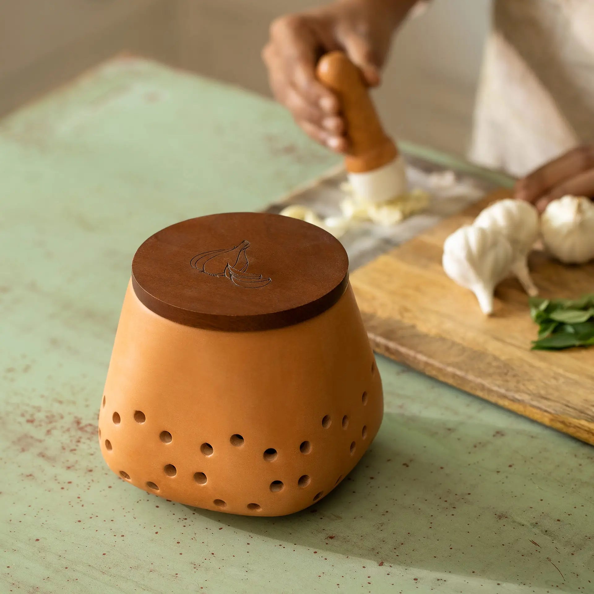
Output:
<svg viewBox="0 0 594 594">
<path fill-rule="evenodd" d="M 539 324 L 533 350 L 594 345 L 594 294 L 579 299 L 530 298 L 530 316 Z"/>
</svg>

